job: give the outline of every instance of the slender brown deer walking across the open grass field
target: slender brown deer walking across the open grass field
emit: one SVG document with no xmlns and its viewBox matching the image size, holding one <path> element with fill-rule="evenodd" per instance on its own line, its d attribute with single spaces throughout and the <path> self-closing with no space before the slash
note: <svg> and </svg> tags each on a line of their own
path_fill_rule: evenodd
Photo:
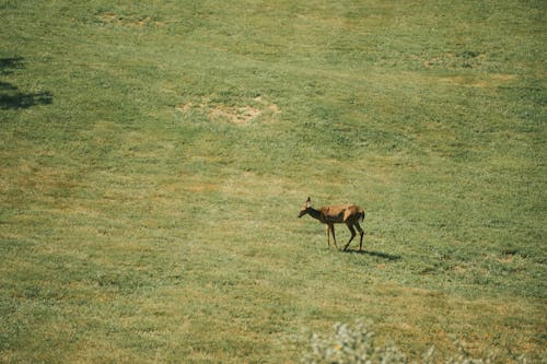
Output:
<svg viewBox="0 0 547 364">
<path fill-rule="evenodd" d="M 361 225 L 359 225 L 359 220 L 363 221 L 364 220 L 364 211 L 359 208 L 356 204 L 336 204 L 336 206 L 326 206 L 321 208 L 319 210 L 315 210 L 312 208 L 312 201 L 310 198 L 305 201 L 305 203 L 302 206 L 302 209 L 300 210 L 299 218 L 302 218 L 305 214 L 309 214 L 310 216 L 317 219 L 322 223 L 327 225 L 327 245 L 330 246 L 330 235 L 329 232 L 333 233 L 333 239 L 335 240 L 335 247 L 338 249 L 338 245 L 336 244 L 336 236 L 335 236 L 335 225 L 334 224 L 341 224 L 345 223 L 350 233 L 351 237 L 348 240 L 348 244 L 344 247 L 344 251 L 348 248 L 349 244 L 356 237 L 356 228 L 358 230 L 359 234 L 361 235 L 361 239 L 359 242 L 359 251 L 361 251 L 363 247 L 363 235 L 364 232 L 361 228 Z"/>
</svg>

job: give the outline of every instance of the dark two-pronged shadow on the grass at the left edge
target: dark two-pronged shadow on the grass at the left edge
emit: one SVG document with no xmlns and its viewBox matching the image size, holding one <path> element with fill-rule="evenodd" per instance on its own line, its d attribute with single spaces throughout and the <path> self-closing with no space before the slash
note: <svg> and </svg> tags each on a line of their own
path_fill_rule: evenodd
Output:
<svg viewBox="0 0 547 364">
<path fill-rule="evenodd" d="M 0 58 L 0 75 L 13 73 L 14 70 L 24 67 L 23 58 Z M 48 91 L 37 93 L 24 93 L 9 82 L 0 81 L 0 109 L 28 108 L 35 105 L 53 104 L 53 94 Z"/>
</svg>

